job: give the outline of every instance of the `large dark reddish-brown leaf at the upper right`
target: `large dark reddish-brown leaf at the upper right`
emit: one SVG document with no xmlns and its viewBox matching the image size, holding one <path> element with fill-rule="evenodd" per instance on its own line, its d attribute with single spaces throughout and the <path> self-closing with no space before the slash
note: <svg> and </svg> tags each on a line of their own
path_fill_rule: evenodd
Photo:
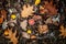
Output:
<svg viewBox="0 0 66 44">
<path fill-rule="evenodd" d="M 57 9 L 55 6 L 53 6 L 53 1 L 51 2 L 45 1 L 44 7 L 48 10 L 48 14 L 51 15 L 57 14 Z"/>
</svg>

